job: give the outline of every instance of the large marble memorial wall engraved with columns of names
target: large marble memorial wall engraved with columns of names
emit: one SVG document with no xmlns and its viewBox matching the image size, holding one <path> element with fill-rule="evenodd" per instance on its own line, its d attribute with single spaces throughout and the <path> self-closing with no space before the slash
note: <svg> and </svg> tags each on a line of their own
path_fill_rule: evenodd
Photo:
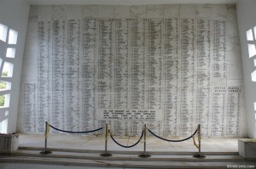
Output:
<svg viewBox="0 0 256 169">
<path fill-rule="evenodd" d="M 32 6 L 21 79 L 22 132 L 246 135 L 233 4 Z"/>
</svg>

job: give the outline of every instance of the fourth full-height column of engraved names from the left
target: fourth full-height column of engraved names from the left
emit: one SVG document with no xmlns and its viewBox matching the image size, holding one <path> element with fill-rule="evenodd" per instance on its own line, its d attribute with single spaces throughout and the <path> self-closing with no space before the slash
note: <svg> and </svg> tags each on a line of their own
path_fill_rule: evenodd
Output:
<svg viewBox="0 0 256 169">
<path fill-rule="evenodd" d="M 82 114 L 83 131 L 91 130 L 96 120 L 96 19 L 83 20 Z"/>
</svg>

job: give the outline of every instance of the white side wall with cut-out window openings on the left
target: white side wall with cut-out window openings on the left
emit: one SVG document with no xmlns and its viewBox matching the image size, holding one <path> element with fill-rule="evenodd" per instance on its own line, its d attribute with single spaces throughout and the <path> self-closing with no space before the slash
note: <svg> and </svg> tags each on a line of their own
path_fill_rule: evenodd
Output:
<svg viewBox="0 0 256 169">
<path fill-rule="evenodd" d="M 29 4 L 26 2 L 26 0 L 0 0 L 0 23 L 7 25 L 9 29 L 18 31 L 17 45 L 15 46 L 15 59 L 10 59 L 10 61 L 14 63 L 13 77 L 8 79 L 8 81 L 12 83 L 11 90 L 9 91 L 10 104 L 9 108 L 0 109 L 0 121 L 3 121 L 3 118 L 8 118 L 7 132 L 16 131 L 20 93 L 20 74 L 26 40 L 28 14 Z M 4 45 L 3 42 L 1 45 Z M 3 80 L 3 78 L 1 78 L 1 80 Z M 3 116 L 6 110 L 9 110 L 9 115 Z"/>
</svg>

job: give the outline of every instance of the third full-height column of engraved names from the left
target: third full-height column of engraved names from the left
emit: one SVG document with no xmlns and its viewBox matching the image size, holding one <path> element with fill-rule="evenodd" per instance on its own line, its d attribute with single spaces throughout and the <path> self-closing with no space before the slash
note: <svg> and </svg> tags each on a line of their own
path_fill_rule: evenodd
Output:
<svg viewBox="0 0 256 169">
<path fill-rule="evenodd" d="M 80 20 L 67 20 L 67 119 L 68 131 L 79 131 Z"/>
</svg>

